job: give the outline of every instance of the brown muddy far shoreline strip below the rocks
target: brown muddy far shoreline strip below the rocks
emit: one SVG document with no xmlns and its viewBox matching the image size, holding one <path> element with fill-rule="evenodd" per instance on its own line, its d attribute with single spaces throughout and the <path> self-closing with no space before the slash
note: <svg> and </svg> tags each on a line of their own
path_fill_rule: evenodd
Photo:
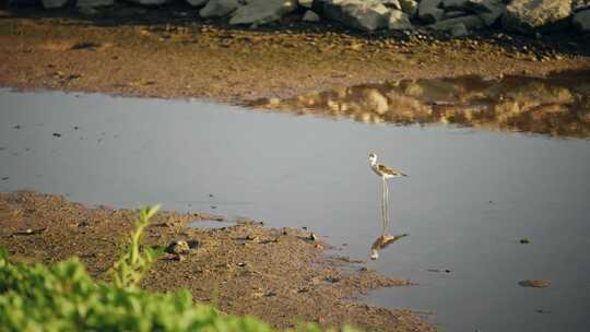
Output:
<svg viewBox="0 0 590 332">
<path fill-rule="evenodd" d="M 333 86 L 590 68 L 588 36 L 359 34 L 284 20 L 248 29 L 170 10 L 0 11 L 0 86 L 244 103 Z"/>
</svg>

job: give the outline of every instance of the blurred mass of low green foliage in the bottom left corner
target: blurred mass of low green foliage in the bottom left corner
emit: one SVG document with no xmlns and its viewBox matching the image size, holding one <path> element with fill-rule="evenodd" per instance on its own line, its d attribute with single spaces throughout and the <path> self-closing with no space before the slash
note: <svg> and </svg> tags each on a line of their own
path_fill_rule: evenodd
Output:
<svg viewBox="0 0 590 332">
<path fill-rule="evenodd" d="M 193 305 L 190 294 L 153 294 L 95 283 L 78 259 L 51 268 L 8 262 L 0 251 L 2 331 L 271 331 L 253 319 Z"/>
</svg>

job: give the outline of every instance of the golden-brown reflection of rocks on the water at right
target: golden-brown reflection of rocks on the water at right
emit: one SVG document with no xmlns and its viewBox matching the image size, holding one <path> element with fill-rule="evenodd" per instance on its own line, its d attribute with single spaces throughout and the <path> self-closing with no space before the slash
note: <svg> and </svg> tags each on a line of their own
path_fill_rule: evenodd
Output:
<svg viewBox="0 0 590 332">
<path fill-rule="evenodd" d="M 569 79 L 568 82 L 575 82 L 571 88 L 562 85 L 567 79 L 560 76 L 552 79 L 555 81 L 518 76 L 409 80 L 334 88 L 252 106 L 350 117 L 367 123 L 452 123 L 589 138 L 590 85 L 585 84 L 588 75 Z"/>
</svg>

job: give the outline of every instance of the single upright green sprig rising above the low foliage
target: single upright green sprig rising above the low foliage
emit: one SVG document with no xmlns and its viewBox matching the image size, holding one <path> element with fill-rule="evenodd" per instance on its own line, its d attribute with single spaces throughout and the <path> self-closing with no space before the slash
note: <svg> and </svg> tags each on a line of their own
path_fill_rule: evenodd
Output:
<svg viewBox="0 0 590 332">
<path fill-rule="evenodd" d="M 140 246 L 143 233 L 150 225 L 150 220 L 158 210 L 160 204 L 140 211 L 140 216 L 135 221 L 135 229 L 129 235 L 121 257 L 107 272 L 115 286 L 119 288 L 137 287 L 157 258 L 160 252 L 149 247 L 140 250 Z"/>
</svg>

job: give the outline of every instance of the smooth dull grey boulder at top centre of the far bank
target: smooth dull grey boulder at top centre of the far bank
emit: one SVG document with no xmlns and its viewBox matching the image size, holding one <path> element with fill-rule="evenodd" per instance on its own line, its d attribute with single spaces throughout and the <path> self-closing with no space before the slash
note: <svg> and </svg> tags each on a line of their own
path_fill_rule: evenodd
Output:
<svg viewBox="0 0 590 332">
<path fill-rule="evenodd" d="M 232 14 L 229 24 L 261 25 L 281 20 L 297 9 L 297 0 L 248 0 Z"/>
</svg>

